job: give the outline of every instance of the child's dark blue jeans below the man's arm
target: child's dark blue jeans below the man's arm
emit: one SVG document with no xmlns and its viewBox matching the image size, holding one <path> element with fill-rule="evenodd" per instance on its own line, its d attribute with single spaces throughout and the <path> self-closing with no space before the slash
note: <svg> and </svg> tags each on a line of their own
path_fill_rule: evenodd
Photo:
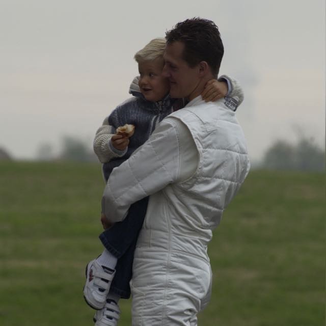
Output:
<svg viewBox="0 0 326 326">
<path fill-rule="evenodd" d="M 148 197 L 132 204 L 126 218 L 115 223 L 99 235 L 105 249 L 118 258 L 116 275 L 110 291 L 122 298 L 130 297 L 129 282 L 132 277 L 133 254 L 141 230 L 146 211 Z"/>
</svg>

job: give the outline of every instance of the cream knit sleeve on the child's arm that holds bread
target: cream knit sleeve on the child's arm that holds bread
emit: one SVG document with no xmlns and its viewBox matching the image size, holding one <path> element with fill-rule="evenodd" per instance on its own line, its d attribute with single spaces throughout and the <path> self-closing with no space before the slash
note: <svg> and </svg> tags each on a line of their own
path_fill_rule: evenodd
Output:
<svg viewBox="0 0 326 326">
<path fill-rule="evenodd" d="M 98 128 L 93 142 L 93 149 L 101 163 L 106 163 L 115 157 L 121 157 L 126 152 L 120 151 L 112 146 L 111 138 L 115 134 L 116 128 L 108 124 L 108 118 L 105 118 L 103 124 Z"/>
</svg>

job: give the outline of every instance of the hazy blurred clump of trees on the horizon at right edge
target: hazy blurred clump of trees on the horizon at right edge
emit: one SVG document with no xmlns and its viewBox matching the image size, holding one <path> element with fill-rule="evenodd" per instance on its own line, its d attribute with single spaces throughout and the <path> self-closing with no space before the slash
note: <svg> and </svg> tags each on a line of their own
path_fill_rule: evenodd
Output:
<svg viewBox="0 0 326 326">
<path fill-rule="evenodd" d="M 308 138 L 300 139 L 296 145 L 279 140 L 266 151 L 262 167 L 275 170 L 323 171 L 325 154 Z"/>
</svg>

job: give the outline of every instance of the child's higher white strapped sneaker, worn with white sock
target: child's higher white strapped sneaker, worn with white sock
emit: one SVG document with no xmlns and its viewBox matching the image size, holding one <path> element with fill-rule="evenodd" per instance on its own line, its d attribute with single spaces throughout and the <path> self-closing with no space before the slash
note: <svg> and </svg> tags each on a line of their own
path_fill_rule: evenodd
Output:
<svg viewBox="0 0 326 326">
<path fill-rule="evenodd" d="M 93 309 L 100 310 L 104 307 L 115 273 L 113 269 L 102 267 L 96 259 L 87 264 L 84 298 Z"/>
</svg>

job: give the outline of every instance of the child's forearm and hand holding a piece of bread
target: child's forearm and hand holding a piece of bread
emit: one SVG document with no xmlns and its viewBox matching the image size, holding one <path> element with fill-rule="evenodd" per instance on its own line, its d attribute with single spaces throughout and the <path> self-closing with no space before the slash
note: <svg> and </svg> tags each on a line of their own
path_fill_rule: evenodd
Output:
<svg viewBox="0 0 326 326">
<path fill-rule="evenodd" d="M 96 131 L 93 148 L 101 163 L 121 157 L 127 152 L 129 139 L 115 134 L 115 130 L 114 126 L 108 124 L 108 118 L 105 118 L 102 126 Z"/>
</svg>

